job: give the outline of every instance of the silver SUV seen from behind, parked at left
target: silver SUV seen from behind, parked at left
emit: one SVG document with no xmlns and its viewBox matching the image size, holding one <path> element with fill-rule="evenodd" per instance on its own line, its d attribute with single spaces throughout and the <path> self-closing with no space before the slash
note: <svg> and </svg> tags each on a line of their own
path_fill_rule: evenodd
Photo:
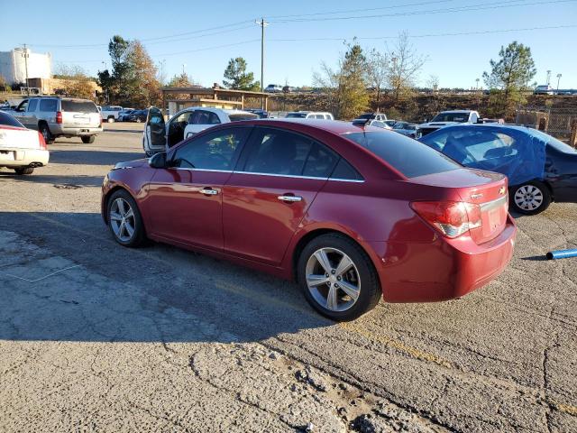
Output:
<svg viewBox="0 0 577 433">
<path fill-rule="evenodd" d="M 31 97 L 11 112 L 24 126 L 37 129 L 46 143 L 57 137 L 80 137 L 82 143 L 94 143 L 102 133 L 102 117 L 96 104 L 75 97 Z"/>
</svg>

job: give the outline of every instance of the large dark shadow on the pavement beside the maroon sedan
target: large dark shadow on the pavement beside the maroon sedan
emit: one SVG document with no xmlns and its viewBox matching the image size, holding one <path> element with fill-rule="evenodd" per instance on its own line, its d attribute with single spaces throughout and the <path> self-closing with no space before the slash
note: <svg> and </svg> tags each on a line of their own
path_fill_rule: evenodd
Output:
<svg viewBox="0 0 577 433">
<path fill-rule="evenodd" d="M 169 245 L 124 248 L 94 213 L 0 213 L 0 317 L 16 341 L 242 342 L 334 325 L 294 282 Z"/>
</svg>

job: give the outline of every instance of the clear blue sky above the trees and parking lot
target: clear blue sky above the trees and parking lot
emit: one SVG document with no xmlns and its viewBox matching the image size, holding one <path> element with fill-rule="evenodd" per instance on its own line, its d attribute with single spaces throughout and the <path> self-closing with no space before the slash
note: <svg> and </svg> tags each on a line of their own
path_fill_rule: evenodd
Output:
<svg viewBox="0 0 577 433">
<path fill-rule="evenodd" d="M 531 47 L 539 84 L 545 83 L 550 69 L 554 87 L 555 76 L 561 73 L 561 88 L 577 88 L 573 46 L 577 0 L 141 0 L 97 2 L 90 7 L 60 0 L 31 6 L 38 11 L 37 5 L 47 5 L 41 14 L 25 14 L 25 25 L 15 19 L 22 16 L 22 4 L 0 4 L 0 51 L 27 43 L 32 51 L 49 51 L 54 65 L 78 65 L 91 74 L 104 69 L 102 61 L 110 67 L 106 45 L 112 35 L 120 34 L 142 40 L 167 77 L 185 65 L 192 78 L 210 86 L 222 81 L 230 58 L 241 56 L 258 79 L 261 29 L 253 22 L 263 16 L 270 21 L 265 35 L 265 85 L 286 81 L 292 86 L 310 85 L 321 61 L 336 63 L 345 49 L 343 40 L 356 36 L 363 48 L 384 51 L 399 32 L 408 32 L 415 49 L 427 58 L 420 73 L 423 84 L 434 74 L 442 87 L 472 88 L 475 78 L 489 69 L 489 60 L 497 58 L 500 46 L 516 40 Z M 463 7 L 470 9 L 460 11 Z M 358 16 L 365 17 L 354 18 Z M 311 19 L 316 21 L 302 21 Z M 540 29 L 494 32 L 536 27 Z M 465 32 L 483 33 L 439 36 Z M 323 38 L 332 40 L 318 40 Z"/>
</svg>

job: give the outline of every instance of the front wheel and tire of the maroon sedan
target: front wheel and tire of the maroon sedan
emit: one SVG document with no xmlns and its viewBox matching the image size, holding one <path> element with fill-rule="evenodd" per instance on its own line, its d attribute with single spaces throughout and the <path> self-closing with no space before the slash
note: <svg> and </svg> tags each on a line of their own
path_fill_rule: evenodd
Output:
<svg viewBox="0 0 577 433">
<path fill-rule="evenodd" d="M 141 212 L 128 191 L 118 189 L 108 199 L 106 218 L 110 233 L 118 244 L 128 247 L 144 244 L 146 234 Z"/>
</svg>

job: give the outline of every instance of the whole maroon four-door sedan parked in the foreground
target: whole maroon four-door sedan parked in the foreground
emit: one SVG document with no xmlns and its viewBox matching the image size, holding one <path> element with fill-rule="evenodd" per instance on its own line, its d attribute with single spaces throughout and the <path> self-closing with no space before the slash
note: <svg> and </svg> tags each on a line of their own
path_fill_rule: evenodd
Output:
<svg viewBox="0 0 577 433">
<path fill-rule="evenodd" d="M 114 239 L 146 238 L 298 280 L 321 314 L 380 299 L 453 299 L 507 266 L 507 178 L 381 128 L 254 120 L 215 126 L 105 177 Z"/>
</svg>

